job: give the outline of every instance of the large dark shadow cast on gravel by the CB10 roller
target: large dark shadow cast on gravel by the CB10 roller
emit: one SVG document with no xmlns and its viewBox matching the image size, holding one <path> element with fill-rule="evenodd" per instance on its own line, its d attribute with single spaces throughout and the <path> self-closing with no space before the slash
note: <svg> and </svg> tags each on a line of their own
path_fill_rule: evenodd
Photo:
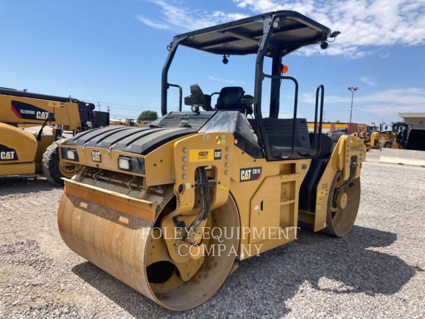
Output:
<svg viewBox="0 0 425 319">
<path fill-rule="evenodd" d="M 224 316 L 240 314 L 241 310 L 252 311 L 256 316 L 270 315 L 271 312 L 284 316 L 291 311 L 286 308 L 285 301 L 295 296 L 305 282 L 320 291 L 392 295 L 416 271 L 422 271 L 397 256 L 369 249 L 391 245 L 397 240 L 394 233 L 354 226 L 344 238 L 310 231 L 300 231 L 298 238 L 293 243 L 241 262 L 238 270 L 227 278 L 204 306 L 188 312 L 204 316 L 204 307 L 208 307 L 210 302 L 217 304 L 226 300 Z M 318 251 L 325 253 L 319 254 Z M 141 304 L 155 309 L 158 314 L 178 316 L 178 313 L 161 308 L 89 262 L 74 266 L 72 271 L 135 317 L 143 315 Z M 396 273 L 398 275 L 394 276 Z M 319 280 L 323 277 L 340 282 L 339 288 L 321 287 Z M 246 298 L 241 300 L 241 295 Z M 270 305 L 278 309 L 271 309 Z"/>
</svg>

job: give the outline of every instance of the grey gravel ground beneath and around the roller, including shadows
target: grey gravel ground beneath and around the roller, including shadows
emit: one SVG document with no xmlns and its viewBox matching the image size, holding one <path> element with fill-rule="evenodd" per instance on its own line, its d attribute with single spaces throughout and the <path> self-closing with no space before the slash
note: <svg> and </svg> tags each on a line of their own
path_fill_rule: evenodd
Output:
<svg viewBox="0 0 425 319">
<path fill-rule="evenodd" d="M 0 317 L 425 317 L 425 168 L 365 162 L 360 211 L 336 239 L 241 262 L 208 302 L 165 310 L 71 252 L 57 230 L 62 189 L 0 179 Z"/>
</svg>

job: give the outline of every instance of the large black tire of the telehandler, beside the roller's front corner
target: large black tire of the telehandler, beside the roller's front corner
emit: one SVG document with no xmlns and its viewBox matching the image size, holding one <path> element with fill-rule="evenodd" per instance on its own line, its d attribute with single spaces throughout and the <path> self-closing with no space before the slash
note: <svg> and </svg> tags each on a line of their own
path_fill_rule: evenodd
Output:
<svg viewBox="0 0 425 319">
<path fill-rule="evenodd" d="M 43 175 L 47 180 L 55 185 L 55 186 L 63 186 L 63 180 L 62 177 L 70 177 L 70 175 L 73 175 L 72 169 L 67 169 L 67 176 L 62 174 L 62 171 L 64 171 L 64 168 L 59 167 L 59 145 L 61 145 L 63 142 L 66 142 L 68 139 L 62 139 L 54 142 L 51 144 L 46 151 L 43 154 L 43 158 L 41 161 L 41 169 L 43 172 Z M 74 168 L 75 169 L 75 168 Z"/>
</svg>

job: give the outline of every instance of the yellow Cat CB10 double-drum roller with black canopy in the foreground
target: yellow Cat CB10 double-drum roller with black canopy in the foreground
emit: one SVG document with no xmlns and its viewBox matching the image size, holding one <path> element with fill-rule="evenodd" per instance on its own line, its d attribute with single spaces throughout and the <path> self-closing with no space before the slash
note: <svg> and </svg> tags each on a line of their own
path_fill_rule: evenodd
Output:
<svg viewBox="0 0 425 319">
<path fill-rule="evenodd" d="M 186 310 L 207 301 L 237 262 L 296 239 L 300 225 L 348 234 L 365 144 L 343 135 L 332 147 L 322 134 L 323 85 L 314 110 L 319 127 L 309 133 L 297 117 L 298 82 L 282 65 L 298 48 L 326 48 L 337 34 L 297 12 L 275 11 L 175 36 L 162 71 L 161 118 L 83 132 L 61 145 L 63 165 L 77 168 L 59 204 L 64 242 L 159 305 Z M 212 105 L 213 94 L 194 84 L 184 98 L 190 111 L 169 112 L 167 91 L 177 85 L 168 83 L 168 70 L 180 46 L 217 54 L 224 64 L 255 54 L 252 95 L 224 87 Z M 285 119 L 279 94 L 288 82 L 295 98 Z"/>
</svg>

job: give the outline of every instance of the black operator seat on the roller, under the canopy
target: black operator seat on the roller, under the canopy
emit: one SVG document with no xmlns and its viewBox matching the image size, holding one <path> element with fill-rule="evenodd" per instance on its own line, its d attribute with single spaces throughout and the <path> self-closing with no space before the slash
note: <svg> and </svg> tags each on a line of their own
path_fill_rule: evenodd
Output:
<svg viewBox="0 0 425 319">
<path fill-rule="evenodd" d="M 254 97 L 251 95 L 244 95 L 245 91 L 240 86 L 227 86 L 221 89 L 218 95 L 217 110 L 245 110 L 248 114 L 252 114 L 252 104 Z"/>
</svg>

